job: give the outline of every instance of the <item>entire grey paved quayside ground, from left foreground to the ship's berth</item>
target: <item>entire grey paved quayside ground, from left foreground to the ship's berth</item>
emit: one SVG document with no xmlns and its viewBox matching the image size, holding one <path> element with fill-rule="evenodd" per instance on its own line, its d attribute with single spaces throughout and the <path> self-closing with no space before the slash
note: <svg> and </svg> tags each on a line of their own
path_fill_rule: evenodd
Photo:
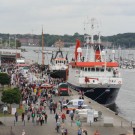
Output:
<svg viewBox="0 0 135 135">
<path fill-rule="evenodd" d="M 72 90 L 73 95 L 69 97 L 64 97 L 65 99 L 76 99 L 79 98 L 79 95 L 76 91 Z M 59 101 L 61 97 L 54 97 L 55 101 Z M 97 122 L 94 122 L 90 125 L 86 121 L 82 122 L 82 129 L 86 129 L 88 131 L 88 135 L 94 135 L 95 130 L 100 132 L 100 135 L 131 135 L 133 134 L 131 123 L 122 118 L 121 116 L 115 115 L 114 112 L 109 110 L 108 108 L 98 104 L 97 102 L 84 97 L 85 103 L 90 105 L 93 109 L 101 111 L 102 117 Z M 0 135 L 22 135 L 23 129 L 26 132 L 26 135 L 61 135 L 61 133 L 57 133 L 55 130 L 56 122 L 55 122 L 55 114 L 50 114 L 49 108 L 46 110 L 48 114 L 48 123 L 43 124 L 42 126 L 36 125 L 27 121 L 27 117 L 25 116 L 25 123 L 21 122 L 21 117 L 19 117 L 19 122 L 14 123 L 14 117 L 2 117 L 0 121 L 2 121 L 5 126 L 0 126 Z M 56 112 L 60 112 L 57 110 Z M 66 113 L 66 111 L 64 110 Z M 104 126 L 104 118 L 110 117 L 113 118 L 113 126 Z M 62 124 L 68 130 L 68 135 L 77 135 L 78 127 L 75 123 L 71 123 L 71 119 L 68 114 L 66 114 L 66 121 Z"/>
</svg>

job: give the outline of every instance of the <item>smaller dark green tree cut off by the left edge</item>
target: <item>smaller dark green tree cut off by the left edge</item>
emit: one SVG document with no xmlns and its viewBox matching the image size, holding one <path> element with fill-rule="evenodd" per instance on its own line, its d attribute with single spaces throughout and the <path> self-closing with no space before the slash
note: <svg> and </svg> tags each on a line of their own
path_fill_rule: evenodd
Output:
<svg viewBox="0 0 135 135">
<path fill-rule="evenodd" d="M 7 73 L 0 73 L 0 84 L 1 85 L 9 85 L 10 84 L 10 76 Z"/>
</svg>

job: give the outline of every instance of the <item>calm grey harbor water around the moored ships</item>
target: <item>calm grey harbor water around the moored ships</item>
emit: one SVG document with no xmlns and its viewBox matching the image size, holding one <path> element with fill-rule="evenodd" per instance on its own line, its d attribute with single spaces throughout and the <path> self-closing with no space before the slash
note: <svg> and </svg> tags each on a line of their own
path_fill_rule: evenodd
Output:
<svg viewBox="0 0 135 135">
<path fill-rule="evenodd" d="M 42 55 L 41 47 L 22 47 L 25 48 L 27 52 L 22 52 L 22 56 L 26 60 L 33 60 L 41 64 Z M 46 48 L 46 50 L 55 50 L 56 48 Z M 38 52 L 35 52 L 39 51 Z M 73 57 L 74 49 L 72 48 L 63 48 L 65 54 L 68 51 L 69 61 Z M 133 51 L 134 52 L 134 51 Z M 116 52 L 117 53 L 117 52 Z M 125 53 L 125 54 L 124 54 Z M 129 51 L 125 51 L 121 55 L 128 57 Z M 119 53 L 118 53 L 119 54 Z M 51 59 L 51 54 L 45 54 L 45 64 L 49 64 Z M 118 97 L 116 99 L 115 105 L 111 108 L 113 111 L 116 111 L 124 118 L 129 121 L 135 121 L 134 111 L 135 111 L 135 69 L 120 69 L 121 76 L 123 78 L 123 85 L 119 91 Z"/>
</svg>

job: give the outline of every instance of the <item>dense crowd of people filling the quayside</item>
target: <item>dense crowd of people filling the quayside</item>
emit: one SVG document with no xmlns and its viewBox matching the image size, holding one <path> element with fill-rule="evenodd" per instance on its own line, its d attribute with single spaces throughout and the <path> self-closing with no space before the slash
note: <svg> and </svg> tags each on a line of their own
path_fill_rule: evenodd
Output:
<svg viewBox="0 0 135 135">
<path fill-rule="evenodd" d="M 43 78 L 42 81 L 26 79 L 25 75 L 20 72 L 18 68 L 13 69 L 11 74 L 11 85 L 19 87 L 22 96 L 22 107 L 24 112 L 21 115 L 21 121 L 27 119 L 30 123 L 36 125 L 44 125 L 47 124 L 48 117 L 54 115 L 54 122 L 56 123 L 56 132 L 61 133 L 62 135 L 68 135 L 70 129 L 65 127 L 65 122 L 67 119 L 66 111 L 62 107 L 63 101 L 68 102 L 69 99 L 65 99 L 63 97 L 57 98 L 58 96 L 57 90 L 54 87 L 47 88 L 41 87 L 42 84 L 48 83 L 52 86 L 57 86 L 61 83 L 62 79 L 54 79 L 46 75 L 42 75 L 42 72 L 35 67 L 34 65 L 30 67 L 29 71 L 26 72 L 27 76 L 30 74 L 38 73 L 38 77 Z M 80 99 L 84 99 L 84 93 L 79 91 Z M 48 111 L 49 110 L 49 111 Z M 69 112 L 69 117 L 71 121 L 75 121 L 74 119 L 74 111 Z M 18 122 L 18 112 L 15 113 L 15 121 Z M 77 134 L 78 135 L 88 135 L 86 129 L 82 129 L 80 120 L 76 120 L 76 125 L 78 127 Z"/>
</svg>

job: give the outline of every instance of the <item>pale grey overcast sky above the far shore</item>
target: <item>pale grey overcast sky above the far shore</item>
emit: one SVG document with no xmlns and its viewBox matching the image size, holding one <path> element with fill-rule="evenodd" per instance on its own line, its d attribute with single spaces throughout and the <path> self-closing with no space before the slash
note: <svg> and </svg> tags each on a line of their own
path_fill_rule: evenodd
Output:
<svg viewBox="0 0 135 135">
<path fill-rule="evenodd" d="M 0 33 L 84 34 L 94 18 L 103 36 L 135 32 L 135 0 L 0 0 Z"/>
</svg>

